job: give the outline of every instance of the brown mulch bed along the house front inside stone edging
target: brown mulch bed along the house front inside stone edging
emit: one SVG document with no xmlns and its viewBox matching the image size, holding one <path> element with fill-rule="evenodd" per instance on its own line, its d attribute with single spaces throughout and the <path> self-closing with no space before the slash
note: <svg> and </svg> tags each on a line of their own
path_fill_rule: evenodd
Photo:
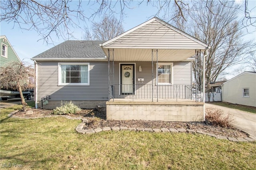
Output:
<svg viewBox="0 0 256 170">
<path fill-rule="evenodd" d="M 34 113 L 27 115 L 22 111 L 15 113 L 17 117 L 42 117 L 46 115 L 52 115 L 52 110 L 47 109 L 30 109 Z M 223 128 L 214 125 L 209 121 L 205 122 L 168 122 L 168 121 L 114 121 L 106 120 L 106 112 L 98 111 L 96 109 L 82 109 L 76 115 L 70 114 L 71 117 L 82 117 L 88 119 L 88 123 L 84 126 L 84 129 L 95 129 L 103 127 L 143 127 L 143 128 L 185 128 L 192 130 L 200 130 L 206 133 L 212 133 L 221 136 L 228 137 L 246 137 L 246 133 L 236 128 Z"/>
</svg>

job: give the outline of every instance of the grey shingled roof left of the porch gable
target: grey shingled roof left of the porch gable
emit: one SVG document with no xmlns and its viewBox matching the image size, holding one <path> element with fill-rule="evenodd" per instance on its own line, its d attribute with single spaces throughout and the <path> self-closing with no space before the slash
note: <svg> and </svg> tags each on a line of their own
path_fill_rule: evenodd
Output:
<svg viewBox="0 0 256 170">
<path fill-rule="evenodd" d="M 105 54 L 99 45 L 103 42 L 104 41 L 68 40 L 36 55 L 32 60 L 50 58 L 104 58 Z"/>
</svg>

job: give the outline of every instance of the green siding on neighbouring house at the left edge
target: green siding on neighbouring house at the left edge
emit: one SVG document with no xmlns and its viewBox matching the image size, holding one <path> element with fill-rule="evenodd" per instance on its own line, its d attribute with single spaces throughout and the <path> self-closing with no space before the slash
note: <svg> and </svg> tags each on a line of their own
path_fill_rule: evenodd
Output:
<svg viewBox="0 0 256 170">
<path fill-rule="evenodd" d="M 2 44 L 7 46 L 7 57 L 2 56 Z M 4 42 L 4 38 L 0 39 L 0 45 L 1 45 L 1 51 L 0 51 L 0 66 L 1 67 L 6 67 L 9 63 L 13 62 L 20 62 L 20 59 L 12 49 L 10 43 L 6 39 L 6 42 Z"/>
</svg>

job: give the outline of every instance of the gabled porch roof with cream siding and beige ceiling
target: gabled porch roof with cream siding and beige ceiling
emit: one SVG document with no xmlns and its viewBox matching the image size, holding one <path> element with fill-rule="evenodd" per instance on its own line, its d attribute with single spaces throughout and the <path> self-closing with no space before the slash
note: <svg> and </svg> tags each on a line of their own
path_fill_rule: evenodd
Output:
<svg viewBox="0 0 256 170">
<path fill-rule="evenodd" d="M 100 46 L 106 56 L 114 49 L 115 61 L 152 61 L 152 49 L 158 49 L 158 61 L 183 61 L 196 49 L 208 49 L 206 43 L 156 17 Z"/>
</svg>

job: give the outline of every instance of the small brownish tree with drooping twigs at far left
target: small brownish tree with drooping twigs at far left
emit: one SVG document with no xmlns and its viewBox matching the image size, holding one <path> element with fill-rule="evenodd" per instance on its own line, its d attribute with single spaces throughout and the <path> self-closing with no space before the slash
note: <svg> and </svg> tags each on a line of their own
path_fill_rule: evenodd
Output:
<svg viewBox="0 0 256 170">
<path fill-rule="evenodd" d="M 34 69 L 31 65 L 23 63 L 9 63 L 6 67 L 0 67 L 0 84 L 5 89 L 15 89 L 20 92 L 22 110 L 26 111 L 26 105 L 22 91 L 34 88 Z"/>
</svg>

